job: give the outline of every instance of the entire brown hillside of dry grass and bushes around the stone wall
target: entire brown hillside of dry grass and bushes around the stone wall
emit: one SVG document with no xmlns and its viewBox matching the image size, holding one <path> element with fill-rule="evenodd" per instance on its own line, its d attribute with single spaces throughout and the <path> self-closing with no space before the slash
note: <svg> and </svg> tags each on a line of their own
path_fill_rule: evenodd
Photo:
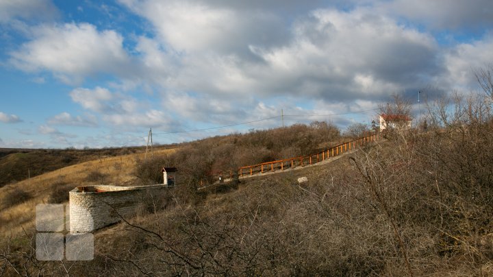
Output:
<svg viewBox="0 0 493 277">
<path fill-rule="evenodd" d="M 481 108 L 472 103 L 460 108 Z M 0 189 L 3 199 L 14 189 L 29 196 L 5 206 L 3 232 L 13 238 L 0 257 L 8 273 L 27 274 L 492 276 L 493 117 L 459 115 L 468 117 L 389 130 L 325 165 L 202 191 L 199 181 L 214 182 L 218 172 L 348 138 L 323 123 L 294 125 L 195 141 L 145 161 L 94 160 L 32 178 L 36 186 L 10 184 Z M 127 222 L 94 232 L 94 260 L 25 254 L 35 234 L 29 210 L 48 200 L 57 180 L 154 184 L 163 165 L 179 169 L 178 185 L 144 200 Z M 299 184 L 301 176 L 308 182 Z"/>
</svg>

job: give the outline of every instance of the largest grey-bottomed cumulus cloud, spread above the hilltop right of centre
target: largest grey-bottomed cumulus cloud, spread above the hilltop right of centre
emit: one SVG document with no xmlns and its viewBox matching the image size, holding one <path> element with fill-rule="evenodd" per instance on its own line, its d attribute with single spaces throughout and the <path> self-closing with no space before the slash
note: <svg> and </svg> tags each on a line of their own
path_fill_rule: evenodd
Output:
<svg viewBox="0 0 493 277">
<path fill-rule="evenodd" d="M 290 35 L 281 46 L 249 45 L 257 60 L 185 55 L 168 84 L 228 101 L 281 95 L 351 101 L 422 86 L 443 70 L 433 37 L 366 10 L 316 10 L 293 23 Z"/>
</svg>

